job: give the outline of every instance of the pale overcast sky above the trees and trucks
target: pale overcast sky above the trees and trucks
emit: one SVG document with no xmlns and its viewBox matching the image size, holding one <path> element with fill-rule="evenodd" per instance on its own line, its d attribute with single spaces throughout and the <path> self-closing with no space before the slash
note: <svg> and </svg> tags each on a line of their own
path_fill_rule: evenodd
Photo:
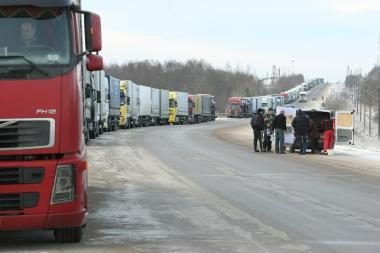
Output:
<svg viewBox="0 0 380 253">
<path fill-rule="evenodd" d="M 83 0 L 102 17 L 106 63 L 205 59 L 259 77 L 272 66 L 344 80 L 377 61 L 380 0 Z"/>
</svg>

